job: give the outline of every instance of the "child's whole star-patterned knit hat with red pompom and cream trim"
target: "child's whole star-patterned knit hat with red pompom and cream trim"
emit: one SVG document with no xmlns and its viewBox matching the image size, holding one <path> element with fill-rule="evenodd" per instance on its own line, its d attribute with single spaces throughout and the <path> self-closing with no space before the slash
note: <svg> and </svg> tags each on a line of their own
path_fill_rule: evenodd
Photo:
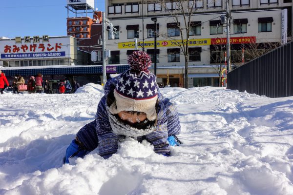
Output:
<svg viewBox="0 0 293 195">
<path fill-rule="evenodd" d="M 158 85 L 156 76 L 147 70 L 151 65 L 150 57 L 146 52 L 134 51 L 127 61 L 129 69 L 118 80 L 114 90 L 116 102 L 110 105 L 109 111 L 111 114 L 144 112 L 148 120 L 155 120 Z"/>
</svg>

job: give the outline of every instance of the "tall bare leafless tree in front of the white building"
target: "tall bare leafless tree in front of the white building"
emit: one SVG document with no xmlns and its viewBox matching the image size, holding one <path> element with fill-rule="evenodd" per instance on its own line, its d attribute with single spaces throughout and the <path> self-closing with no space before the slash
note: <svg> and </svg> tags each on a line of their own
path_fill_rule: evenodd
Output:
<svg viewBox="0 0 293 195">
<path fill-rule="evenodd" d="M 193 26 L 191 22 L 192 13 L 195 11 L 197 0 L 151 0 L 156 4 L 161 4 L 162 9 L 165 9 L 172 17 L 175 23 L 174 28 L 180 31 L 180 39 L 174 39 L 170 33 L 160 33 L 161 37 L 174 41 L 175 45 L 180 47 L 185 59 L 185 78 L 184 87 L 188 88 L 188 40 L 189 32 Z"/>
</svg>

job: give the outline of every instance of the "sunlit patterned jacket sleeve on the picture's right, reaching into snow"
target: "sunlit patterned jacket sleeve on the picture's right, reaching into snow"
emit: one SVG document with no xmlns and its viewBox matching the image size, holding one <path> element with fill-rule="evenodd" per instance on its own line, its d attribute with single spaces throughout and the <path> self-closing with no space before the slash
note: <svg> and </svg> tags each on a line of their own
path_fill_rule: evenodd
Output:
<svg viewBox="0 0 293 195">
<path fill-rule="evenodd" d="M 156 130 L 146 135 L 146 140 L 154 146 L 154 152 L 164 156 L 170 155 L 170 146 L 167 141 L 167 116 L 166 110 L 161 108 L 158 113 Z"/>
</svg>

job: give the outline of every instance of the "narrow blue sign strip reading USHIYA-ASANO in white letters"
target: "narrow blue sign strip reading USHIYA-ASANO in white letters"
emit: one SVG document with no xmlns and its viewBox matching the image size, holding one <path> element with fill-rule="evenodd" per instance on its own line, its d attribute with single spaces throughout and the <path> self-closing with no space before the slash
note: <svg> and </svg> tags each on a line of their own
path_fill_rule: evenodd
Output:
<svg viewBox="0 0 293 195">
<path fill-rule="evenodd" d="M 1 59 L 9 58 L 50 58 L 64 57 L 65 52 L 40 52 L 40 53 L 20 53 L 20 54 L 1 54 Z"/>
</svg>

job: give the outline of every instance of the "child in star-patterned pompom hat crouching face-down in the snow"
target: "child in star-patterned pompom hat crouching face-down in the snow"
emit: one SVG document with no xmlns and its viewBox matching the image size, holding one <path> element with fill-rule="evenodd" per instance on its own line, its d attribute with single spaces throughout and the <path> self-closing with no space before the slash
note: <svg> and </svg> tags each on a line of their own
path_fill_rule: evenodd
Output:
<svg viewBox="0 0 293 195">
<path fill-rule="evenodd" d="M 181 131 L 177 109 L 159 93 L 155 75 L 147 70 L 150 57 L 135 51 L 128 57 L 128 64 L 129 70 L 106 82 L 95 120 L 77 133 L 66 150 L 64 163 L 69 163 L 69 157 L 84 157 L 97 147 L 106 159 L 117 152 L 118 141 L 124 137 L 146 139 L 155 153 L 164 156 L 170 156 L 170 145 L 181 143 L 175 136 Z"/>
</svg>

